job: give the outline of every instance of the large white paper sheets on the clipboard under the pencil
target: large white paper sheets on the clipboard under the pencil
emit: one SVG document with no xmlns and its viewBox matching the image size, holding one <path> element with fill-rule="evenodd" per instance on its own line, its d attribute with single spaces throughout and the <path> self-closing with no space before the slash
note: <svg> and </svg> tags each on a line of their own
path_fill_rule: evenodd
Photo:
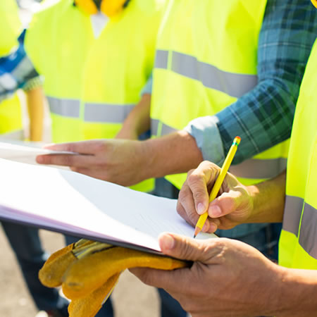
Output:
<svg viewBox="0 0 317 317">
<path fill-rule="evenodd" d="M 68 170 L 0 159 L 0 218 L 159 251 L 161 232 L 192 237 L 176 200 Z M 201 233 L 198 239 L 215 235 Z"/>
</svg>

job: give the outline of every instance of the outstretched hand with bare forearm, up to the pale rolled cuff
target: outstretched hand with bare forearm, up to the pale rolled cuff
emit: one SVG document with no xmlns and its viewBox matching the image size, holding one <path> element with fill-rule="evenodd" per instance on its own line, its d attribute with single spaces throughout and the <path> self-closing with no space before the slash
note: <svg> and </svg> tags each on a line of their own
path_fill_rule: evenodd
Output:
<svg viewBox="0 0 317 317">
<path fill-rule="evenodd" d="M 78 173 L 123 186 L 148 178 L 187 173 L 202 161 L 194 138 L 182 130 L 145 141 L 95 139 L 52 144 L 46 149 L 73 151 L 78 155 L 37 156 L 37 163 L 69 166 Z"/>
</svg>

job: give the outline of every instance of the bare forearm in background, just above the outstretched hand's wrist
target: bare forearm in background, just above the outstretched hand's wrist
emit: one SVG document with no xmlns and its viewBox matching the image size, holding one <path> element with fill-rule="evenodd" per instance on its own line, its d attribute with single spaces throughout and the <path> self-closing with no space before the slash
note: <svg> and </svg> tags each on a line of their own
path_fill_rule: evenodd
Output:
<svg viewBox="0 0 317 317">
<path fill-rule="evenodd" d="M 139 103 L 132 109 L 118 132 L 117 138 L 130 139 L 130 135 L 142 135 L 150 128 L 151 94 L 144 94 Z"/>
</svg>

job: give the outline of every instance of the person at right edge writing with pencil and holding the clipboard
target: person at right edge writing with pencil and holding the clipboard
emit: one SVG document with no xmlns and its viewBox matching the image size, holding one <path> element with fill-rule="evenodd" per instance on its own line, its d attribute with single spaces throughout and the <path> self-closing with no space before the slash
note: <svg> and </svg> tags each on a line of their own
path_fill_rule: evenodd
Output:
<svg viewBox="0 0 317 317">
<path fill-rule="evenodd" d="M 317 7 L 317 1 L 313 3 Z M 316 316 L 316 89 L 317 40 L 299 92 L 287 173 L 253 186 L 242 185 L 228 173 L 220 196 L 208 208 L 209 221 L 219 228 L 282 222 L 280 266 L 237 240 L 199 241 L 166 233 L 159 237 L 163 253 L 194 261 L 193 266 L 173 272 L 130 271 L 170 292 L 192 316 Z M 189 174 L 178 201 L 187 220 L 197 220 L 194 206 L 208 206 L 207 188 L 218 173 L 218 166 L 204 161 Z M 215 216 L 216 210 L 220 213 Z"/>
</svg>

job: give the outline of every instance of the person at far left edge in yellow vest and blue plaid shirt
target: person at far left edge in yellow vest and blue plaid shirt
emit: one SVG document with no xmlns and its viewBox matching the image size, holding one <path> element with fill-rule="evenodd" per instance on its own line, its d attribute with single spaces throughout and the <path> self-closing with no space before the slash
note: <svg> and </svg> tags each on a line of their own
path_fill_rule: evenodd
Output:
<svg viewBox="0 0 317 317">
<path fill-rule="evenodd" d="M 23 111 L 20 96 L 25 94 L 30 118 L 28 138 L 42 141 L 44 96 L 42 80 L 25 54 L 24 35 L 15 0 L 0 1 L 0 140 L 25 140 Z M 48 254 L 39 239 L 39 230 L 17 223 L 1 221 L 1 227 L 10 243 L 23 278 L 37 309 L 49 311 L 49 316 L 68 316 L 68 301 L 58 290 L 44 287 L 38 271 Z M 4 287 L 4 285 L 1 285 Z"/>
</svg>

